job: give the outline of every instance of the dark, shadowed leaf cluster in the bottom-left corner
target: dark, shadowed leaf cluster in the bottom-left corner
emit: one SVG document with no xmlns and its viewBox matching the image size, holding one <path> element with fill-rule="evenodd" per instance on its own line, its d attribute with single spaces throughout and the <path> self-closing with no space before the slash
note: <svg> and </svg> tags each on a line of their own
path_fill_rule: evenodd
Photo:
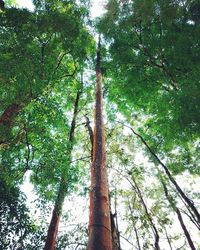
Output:
<svg viewBox="0 0 200 250">
<path fill-rule="evenodd" d="M 31 220 L 26 197 L 19 187 L 0 180 L 0 248 L 38 249 L 44 240 L 41 226 Z M 32 248 L 32 246 L 34 246 Z"/>
</svg>

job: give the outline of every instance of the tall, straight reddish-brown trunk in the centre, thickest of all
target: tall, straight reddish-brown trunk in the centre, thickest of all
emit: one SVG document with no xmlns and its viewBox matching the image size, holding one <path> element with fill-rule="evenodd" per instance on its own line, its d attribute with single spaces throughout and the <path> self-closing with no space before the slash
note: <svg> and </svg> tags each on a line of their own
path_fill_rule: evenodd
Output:
<svg viewBox="0 0 200 250">
<path fill-rule="evenodd" d="M 93 161 L 91 169 L 89 240 L 87 250 L 112 249 L 101 85 L 102 75 L 100 68 L 99 40 L 96 61 L 96 106 Z"/>
</svg>

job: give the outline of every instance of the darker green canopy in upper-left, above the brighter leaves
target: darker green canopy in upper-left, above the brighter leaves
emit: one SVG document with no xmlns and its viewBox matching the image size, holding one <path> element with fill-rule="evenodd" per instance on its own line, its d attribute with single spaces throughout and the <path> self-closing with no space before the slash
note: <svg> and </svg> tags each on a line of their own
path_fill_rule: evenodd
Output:
<svg viewBox="0 0 200 250">
<path fill-rule="evenodd" d="M 68 1 L 62 6 L 44 3 L 39 1 L 34 12 L 8 8 L 0 16 L 0 110 L 18 107 L 6 126 L 0 125 L 1 141 L 11 139 L 7 127 L 25 106 L 47 87 L 74 75 L 93 50 L 82 7 Z"/>
</svg>

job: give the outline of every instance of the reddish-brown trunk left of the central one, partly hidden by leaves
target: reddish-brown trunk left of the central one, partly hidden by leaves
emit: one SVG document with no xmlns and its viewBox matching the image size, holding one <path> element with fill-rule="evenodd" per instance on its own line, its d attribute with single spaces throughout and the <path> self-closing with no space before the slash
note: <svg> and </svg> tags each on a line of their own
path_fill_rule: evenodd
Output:
<svg viewBox="0 0 200 250">
<path fill-rule="evenodd" d="M 80 99 L 81 90 L 77 92 L 76 100 L 74 103 L 74 114 L 71 122 L 71 128 L 69 133 L 69 142 L 71 143 L 71 150 L 68 152 L 71 154 L 71 151 L 73 149 L 73 141 L 74 141 L 74 132 L 76 127 L 76 117 L 78 114 L 78 102 Z M 58 226 L 60 221 L 60 216 L 62 212 L 62 206 L 64 203 L 64 199 L 67 192 L 67 176 L 66 174 L 63 174 L 60 181 L 60 186 L 57 194 L 57 198 L 55 201 L 51 221 L 48 228 L 47 238 L 44 246 L 44 250 L 54 250 L 55 244 L 56 244 L 56 237 L 58 233 Z"/>
</svg>

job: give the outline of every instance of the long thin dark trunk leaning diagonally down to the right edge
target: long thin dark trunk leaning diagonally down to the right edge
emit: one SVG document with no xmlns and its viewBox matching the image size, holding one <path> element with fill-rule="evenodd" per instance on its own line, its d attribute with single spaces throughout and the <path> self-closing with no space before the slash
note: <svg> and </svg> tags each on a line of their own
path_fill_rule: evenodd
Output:
<svg viewBox="0 0 200 250">
<path fill-rule="evenodd" d="M 159 159 L 159 157 L 154 153 L 154 151 L 151 149 L 151 147 L 148 145 L 148 143 L 144 140 L 144 138 L 140 134 L 136 133 L 133 128 L 131 128 L 129 126 L 126 126 L 126 127 L 128 127 L 129 129 L 131 129 L 131 131 L 133 132 L 133 134 L 136 135 L 138 138 L 140 138 L 140 140 L 146 146 L 146 148 L 149 150 L 149 152 L 151 153 L 151 155 L 163 167 L 163 169 L 164 169 L 166 175 L 168 176 L 169 180 L 175 186 L 177 192 L 182 197 L 182 199 L 185 201 L 185 203 L 193 211 L 193 213 L 194 213 L 194 215 L 196 217 L 196 222 L 198 223 L 198 225 L 200 225 L 200 214 L 199 214 L 197 208 L 195 207 L 194 202 L 191 199 L 189 199 L 187 197 L 187 195 L 183 192 L 183 190 L 181 189 L 181 187 L 178 185 L 178 183 L 176 182 L 176 180 L 174 179 L 174 177 L 172 176 L 172 174 L 168 170 L 167 166 Z"/>
</svg>

